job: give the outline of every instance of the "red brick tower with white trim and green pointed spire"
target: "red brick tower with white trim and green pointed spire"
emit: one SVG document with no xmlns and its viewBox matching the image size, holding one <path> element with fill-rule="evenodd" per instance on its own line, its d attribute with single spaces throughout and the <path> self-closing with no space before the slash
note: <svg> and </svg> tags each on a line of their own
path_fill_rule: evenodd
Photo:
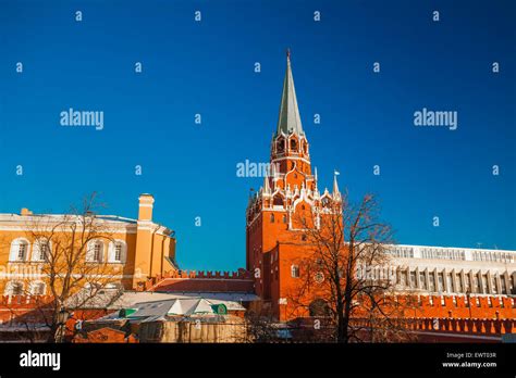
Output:
<svg viewBox="0 0 516 378">
<path fill-rule="evenodd" d="M 303 130 L 292 76 L 290 52 L 283 81 L 278 128 L 271 141 L 269 175 L 263 186 L 249 198 L 247 206 L 247 269 L 255 276 L 256 293 L 266 308 L 285 319 L 283 295 L 296 279 L 291 262 L 306 252 L 302 240 L 300 217 L 305 212 L 322 214 L 327 202 L 341 200 L 336 177 L 333 193 L 321 194 L 317 187 L 317 168 L 312 174 L 309 143 Z"/>
</svg>

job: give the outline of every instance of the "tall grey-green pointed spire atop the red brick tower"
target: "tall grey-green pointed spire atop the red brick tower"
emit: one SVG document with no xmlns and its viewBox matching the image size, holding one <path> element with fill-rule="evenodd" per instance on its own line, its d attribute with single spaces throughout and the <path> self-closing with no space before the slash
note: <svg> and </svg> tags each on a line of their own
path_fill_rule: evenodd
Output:
<svg viewBox="0 0 516 378">
<path fill-rule="evenodd" d="M 278 119 L 279 134 L 290 135 L 296 133 L 297 135 L 304 135 L 299 108 L 297 106 L 296 90 L 294 87 L 294 77 L 292 75 L 291 67 L 291 50 L 286 49 L 286 73 L 283 80 L 283 93 L 281 94 L 280 116 Z"/>
</svg>

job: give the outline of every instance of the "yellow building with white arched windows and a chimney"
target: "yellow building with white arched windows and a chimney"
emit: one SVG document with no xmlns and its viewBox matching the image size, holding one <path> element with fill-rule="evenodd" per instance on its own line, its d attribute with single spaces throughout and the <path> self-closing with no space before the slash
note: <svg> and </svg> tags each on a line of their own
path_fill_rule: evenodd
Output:
<svg viewBox="0 0 516 378">
<path fill-rule="evenodd" d="M 153 202 L 151 194 L 139 196 L 137 219 L 27 209 L 0 214 L 0 292 L 54 295 L 51 279 L 74 288 L 105 282 L 138 289 L 176 269 L 174 231 L 152 220 Z"/>
</svg>

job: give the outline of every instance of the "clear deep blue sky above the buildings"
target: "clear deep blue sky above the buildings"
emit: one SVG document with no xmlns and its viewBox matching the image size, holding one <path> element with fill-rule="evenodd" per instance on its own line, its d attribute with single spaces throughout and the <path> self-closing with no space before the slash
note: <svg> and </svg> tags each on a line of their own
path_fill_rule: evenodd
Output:
<svg viewBox="0 0 516 378">
<path fill-rule="evenodd" d="M 245 266 L 261 179 L 236 164 L 269 158 L 290 47 L 320 188 L 337 169 L 353 198 L 377 193 L 401 243 L 516 249 L 515 4 L 0 0 L 0 212 L 99 191 L 136 217 L 150 192 L 184 268 Z M 60 126 L 69 108 L 103 111 L 103 130 Z M 458 128 L 415 127 L 422 108 L 458 112 Z"/>
</svg>

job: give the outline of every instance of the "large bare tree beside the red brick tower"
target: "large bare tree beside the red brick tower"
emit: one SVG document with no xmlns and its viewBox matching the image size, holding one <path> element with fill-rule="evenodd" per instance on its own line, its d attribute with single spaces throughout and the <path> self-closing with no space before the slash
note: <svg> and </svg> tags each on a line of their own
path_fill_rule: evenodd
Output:
<svg viewBox="0 0 516 378">
<path fill-rule="evenodd" d="M 293 308 L 329 320 L 336 342 L 401 338 L 406 301 L 395 300 L 395 280 L 384 274 L 392 272 L 394 241 L 374 196 L 353 204 L 346 192 L 315 209 L 296 216 L 310 252 L 297 260 L 300 280 L 288 294 Z"/>
</svg>

